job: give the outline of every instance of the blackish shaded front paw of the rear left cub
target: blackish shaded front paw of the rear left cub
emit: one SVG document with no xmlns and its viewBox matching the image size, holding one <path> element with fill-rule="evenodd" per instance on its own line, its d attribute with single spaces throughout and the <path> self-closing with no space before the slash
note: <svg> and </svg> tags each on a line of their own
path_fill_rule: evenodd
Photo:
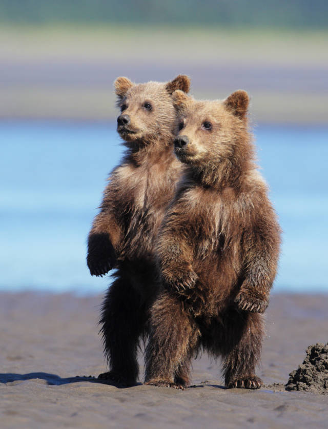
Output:
<svg viewBox="0 0 328 429">
<path fill-rule="evenodd" d="M 88 240 L 87 265 L 92 276 L 102 277 L 115 267 L 115 251 L 107 233 L 91 234 Z"/>
</svg>

